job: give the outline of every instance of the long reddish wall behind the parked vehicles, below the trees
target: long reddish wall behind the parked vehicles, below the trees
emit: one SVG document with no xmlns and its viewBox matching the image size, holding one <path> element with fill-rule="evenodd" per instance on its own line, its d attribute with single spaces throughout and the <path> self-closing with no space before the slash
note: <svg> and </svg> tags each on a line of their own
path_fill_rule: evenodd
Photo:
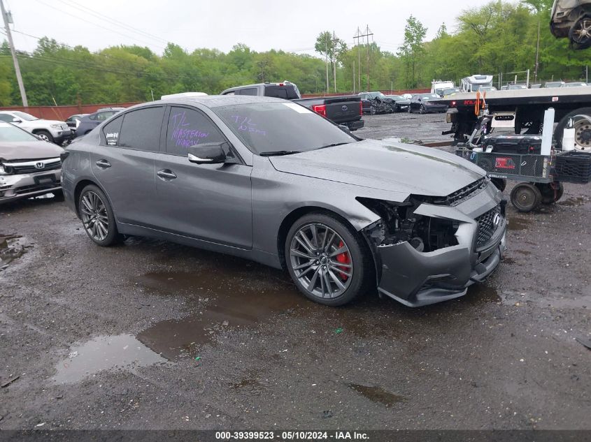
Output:
<svg viewBox="0 0 591 442">
<path fill-rule="evenodd" d="M 423 94 L 425 92 L 430 92 L 431 89 L 413 89 L 413 90 L 402 90 L 402 91 L 393 91 L 392 94 L 401 95 L 401 94 Z M 383 94 L 390 95 L 390 91 L 383 90 Z M 313 98 L 317 96 L 343 96 L 343 95 L 351 95 L 351 94 L 304 94 L 302 97 L 304 98 Z M 29 106 L 28 108 L 24 108 L 22 106 L 9 106 L 7 108 L 3 108 L 3 110 L 22 110 L 22 112 L 27 112 L 31 115 L 34 115 L 37 118 L 43 119 L 57 119 L 59 121 L 64 121 L 70 115 L 74 114 L 92 114 L 92 112 L 97 112 L 97 110 L 101 108 L 129 108 L 129 106 L 133 106 L 139 104 L 138 103 L 103 103 L 103 104 L 83 104 L 83 105 L 71 105 L 71 106 Z"/>
</svg>

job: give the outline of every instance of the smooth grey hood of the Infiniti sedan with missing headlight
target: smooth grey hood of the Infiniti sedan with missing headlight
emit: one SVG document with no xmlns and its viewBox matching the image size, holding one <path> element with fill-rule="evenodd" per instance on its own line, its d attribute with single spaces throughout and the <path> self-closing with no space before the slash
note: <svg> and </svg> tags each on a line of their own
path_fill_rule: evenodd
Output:
<svg viewBox="0 0 591 442">
<path fill-rule="evenodd" d="M 485 175 L 478 166 L 448 152 L 387 140 L 363 140 L 269 160 L 280 172 L 425 196 L 448 196 Z"/>
</svg>

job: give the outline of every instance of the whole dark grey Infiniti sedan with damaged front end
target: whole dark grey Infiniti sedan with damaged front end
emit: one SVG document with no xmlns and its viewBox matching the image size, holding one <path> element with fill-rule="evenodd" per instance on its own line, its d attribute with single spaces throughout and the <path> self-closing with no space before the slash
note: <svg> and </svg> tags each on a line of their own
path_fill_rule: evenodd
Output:
<svg viewBox="0 0 591 442">
<path fill-rule="evenodd" d="M 64 196 L 99 246 L 141 235 L 249 258 L 322 304 L 376 286 L 411 307 L 460 297 L 505 248 L 505 201 L 480 168 L 278 98 L 136 105 L 66 152 Z"/>
</svg>

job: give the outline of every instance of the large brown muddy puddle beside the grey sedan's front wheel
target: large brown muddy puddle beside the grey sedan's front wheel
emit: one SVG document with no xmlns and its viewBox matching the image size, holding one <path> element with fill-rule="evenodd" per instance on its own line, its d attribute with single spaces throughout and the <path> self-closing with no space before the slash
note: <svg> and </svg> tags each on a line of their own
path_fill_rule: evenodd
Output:
<svg viewBox="0 0 591 442">
<path fill-rule="evenodd" d="M 252 327 L 311 304 L 290 283 L 257 279 L 249 272 L 151 272 L 138 282 L 150 293 L 192 295 L 196 304 L 197 300 L 204 303 L 197 304 L 199 311 L 186 318 L 161 321 L 137 335 L 139 341 L 169 360 L 197 355 L 200 346 L 227 327 Z"/>
</svg>

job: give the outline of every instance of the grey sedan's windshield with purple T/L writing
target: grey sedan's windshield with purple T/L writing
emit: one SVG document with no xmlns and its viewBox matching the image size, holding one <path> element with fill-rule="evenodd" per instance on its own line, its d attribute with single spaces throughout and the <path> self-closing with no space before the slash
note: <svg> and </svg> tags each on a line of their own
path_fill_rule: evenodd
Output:
<svg viewBox="0 0 591 442">
<path fill-rule="evenodd" d="M 357 141 L 330 121 L 296 103 L 250 103 L 212 110 L 255 154 L 306 152 Z"/>
</svg>

